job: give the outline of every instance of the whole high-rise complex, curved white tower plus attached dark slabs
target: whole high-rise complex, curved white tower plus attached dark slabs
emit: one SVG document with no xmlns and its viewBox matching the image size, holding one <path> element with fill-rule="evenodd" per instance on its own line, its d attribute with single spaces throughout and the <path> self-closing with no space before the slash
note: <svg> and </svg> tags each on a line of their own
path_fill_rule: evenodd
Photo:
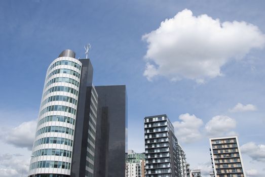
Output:
<svg viewBox="0 0 265 177">
<path fill-rule="evenodd" d="M 48 67 L 30 160 L 30 177 L 96 176 L 98 165 L 101 165 L 96 159 L 102 157 L 103 167 L 111 166 L 109 159 L 113 157 L 109 154 L 113 152 L 117 159 L 124 161 L 121 162 L 124 168 L 111 166 L 112 169 L 105 171 L 106 176 L 110 173 L 125 175 L 125 157 L 121 158 L 126 151 L 125 85 L 95 87 L 92 80 L 90 60 L 75 59 L 71 50 L 63 51 Z M 108 93 L 115 94 L 108 97 Z M 109 105 L 112 99 L 118 103 Z M 117 120 L 119 128 L 110 123 Z M 116 138 L 119 145 L 112 146 Z M 104 153 L 97 153 L 98 149 Z"/>
</svg>

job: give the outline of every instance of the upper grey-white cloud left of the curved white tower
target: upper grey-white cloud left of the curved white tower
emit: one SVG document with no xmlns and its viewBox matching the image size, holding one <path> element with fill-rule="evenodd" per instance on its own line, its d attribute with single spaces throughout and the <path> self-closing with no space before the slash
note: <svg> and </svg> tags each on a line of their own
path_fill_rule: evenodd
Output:
<svg viewBox="0 0 265 177">
<path fill-rule="evenodd" d="M 1 139 L 12 144 L 15 147 L 32 149 L 34 136 L 35 136 L 36 120 L 23 122 L 17 127 L 11 129 L 2 128 Z"/>
</svg>

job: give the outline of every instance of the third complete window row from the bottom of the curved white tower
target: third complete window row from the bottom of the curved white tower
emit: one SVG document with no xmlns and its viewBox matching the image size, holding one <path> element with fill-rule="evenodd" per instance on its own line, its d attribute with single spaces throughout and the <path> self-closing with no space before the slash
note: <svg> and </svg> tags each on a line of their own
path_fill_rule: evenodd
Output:
<svg viewBox="0 0 265 177">
<path fill-rule="evenodd" d="M 34 142 L 34 147 L 42 144 L 61 144 L 72 146 L 72 140 L 59 137 L 45 137 Z"/>
</svg>

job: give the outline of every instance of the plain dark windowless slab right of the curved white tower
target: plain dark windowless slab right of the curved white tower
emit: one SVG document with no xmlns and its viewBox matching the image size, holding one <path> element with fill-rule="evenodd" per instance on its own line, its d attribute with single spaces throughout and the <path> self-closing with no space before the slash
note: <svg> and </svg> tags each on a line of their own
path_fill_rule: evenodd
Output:
<svg viewBox="0 0 265 177">
<path fill-rule="evenodd" d="M 98 93 L 95 177 L 125 176 L 127 95 L 125 85 L 95 86 Z M 126 151 L 125 151 L 126 150 Z"/>
</svg>

